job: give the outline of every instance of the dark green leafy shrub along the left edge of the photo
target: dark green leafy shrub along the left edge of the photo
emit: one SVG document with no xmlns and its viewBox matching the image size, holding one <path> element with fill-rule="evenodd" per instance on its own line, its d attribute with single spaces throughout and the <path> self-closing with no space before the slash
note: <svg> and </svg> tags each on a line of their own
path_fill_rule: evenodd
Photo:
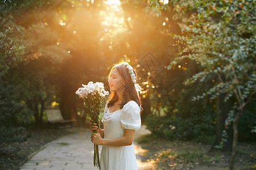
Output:
<svg viewBox="0 0 256 170">
<path fill-rule="evenodd" d="M 30 120 L 31 112 L 20 99 L 19 84 L 10 84 L 10 70 L 22 62 L 24 46 L 11 38 L 13 29 L 0 32 L 0 124 L 2 128 L 24 125 Z"/>
</svg>

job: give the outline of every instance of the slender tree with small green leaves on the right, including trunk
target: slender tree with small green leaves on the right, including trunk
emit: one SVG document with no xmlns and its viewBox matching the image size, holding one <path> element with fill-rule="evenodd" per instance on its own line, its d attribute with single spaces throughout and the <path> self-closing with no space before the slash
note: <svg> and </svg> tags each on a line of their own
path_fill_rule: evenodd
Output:
<svg viewBox="0 0 256 170">
<path fill-rule="evenodd" d="M 210 95 L 212 99 L 225 94 L 224 101 L 234 97 L 233 109 L 225 125 L 233 122 L 233 146 L 230 169 L 238 141 L 238 121 L 246 105 L 255 95 L 255 1 L 173 1 L 180 22 L 182 35 L 170 35 L 185 43 L 167 69 L 183 58 L 195 59 L 205 69 L 188 79 L 185 84 L 198 83 L 215 74 L 218 81 L 194 100 Z M 184 15 L 184 9 L 192 11 Z M 214 16 L 219 17 L 214 17 Z M 225 131 L 224 131 L 225 133 Z M 224 142 L 224 141 L 222 141 Z"/>
</svg>

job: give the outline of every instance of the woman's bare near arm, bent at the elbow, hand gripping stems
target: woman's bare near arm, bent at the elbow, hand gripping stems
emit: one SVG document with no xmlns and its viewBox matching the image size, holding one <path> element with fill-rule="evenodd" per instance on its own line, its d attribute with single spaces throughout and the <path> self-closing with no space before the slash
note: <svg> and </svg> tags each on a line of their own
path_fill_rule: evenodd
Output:
<svg viewBox="0 0 256 170">
<path fill-rule="evenodd" d="M 114 139 L 103 139 L 100 133 L 92 133 L 91 141 L 96 145 L 128 146 L 133 144 L 135 130 L 125 129 L 123 136 Z"/>
</svg>

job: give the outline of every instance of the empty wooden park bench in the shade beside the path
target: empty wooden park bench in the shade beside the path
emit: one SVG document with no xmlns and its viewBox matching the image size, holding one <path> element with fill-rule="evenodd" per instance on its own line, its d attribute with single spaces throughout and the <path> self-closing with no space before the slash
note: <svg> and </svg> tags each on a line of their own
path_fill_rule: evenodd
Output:
<svg viewBox="0 0 256 170">
<path fill-rule="evenodd" d="M 64 120 L 64 118 L 61 115 L 61 112 L 59 109 L 46 109 L 46 117 L 48 120 L 49 126 L 64 126 L 64 125 L 71 125 L 73 126 L 73 120 Z"/>
</svg>

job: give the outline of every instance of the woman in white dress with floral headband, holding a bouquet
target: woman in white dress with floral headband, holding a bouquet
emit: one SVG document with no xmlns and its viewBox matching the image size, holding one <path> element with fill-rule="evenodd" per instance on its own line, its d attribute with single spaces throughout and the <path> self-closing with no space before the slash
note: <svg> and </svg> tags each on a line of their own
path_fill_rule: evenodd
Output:
<svg viewBox="0 0 256 170">
<path fill-rule="evenodd" d="M 101 170 L 138 170 L 133 140 L 135 130 L 141 128 L 141 87 L 135 84 L 135 70 L 127 62 L 114 65 L 108 81 L 112 94 L 102 118 L 104 129 L 91 122 L 90 130 L 97 129 L 91 141 L 102 145 Z"/>
</svg>

